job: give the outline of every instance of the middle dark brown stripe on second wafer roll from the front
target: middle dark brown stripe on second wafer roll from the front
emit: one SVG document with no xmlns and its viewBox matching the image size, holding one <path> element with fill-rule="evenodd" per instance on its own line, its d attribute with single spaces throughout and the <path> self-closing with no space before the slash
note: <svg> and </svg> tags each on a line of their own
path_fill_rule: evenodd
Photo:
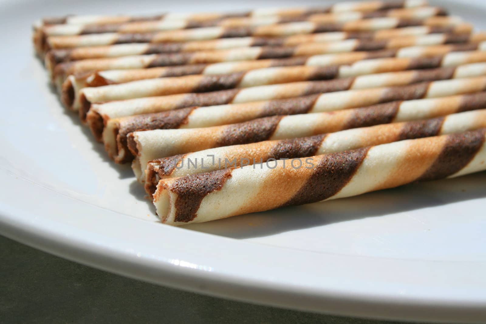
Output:
<svg viewBox="0 0 486 324">
<path fill-rule="evenodd" d="M 326 134 L 321 134 L 278 141 L 269 152 L 268 158 L 282 159 L 315 155 L 326 136 Z"/>
</svg>

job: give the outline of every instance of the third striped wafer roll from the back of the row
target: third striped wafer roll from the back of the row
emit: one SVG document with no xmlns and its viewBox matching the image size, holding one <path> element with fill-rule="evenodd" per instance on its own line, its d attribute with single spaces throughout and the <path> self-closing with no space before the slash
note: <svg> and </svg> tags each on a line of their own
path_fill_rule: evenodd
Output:
<svg viewBox="0 0 486 324">
<path fill-rule="evenodd" d="M 395 17 L 382 17 L 349 21 L 345 23 L 315 23 L 312 21 L 290 22 L 260 27 L 230 28 L 205 27 L 186 30 L 165 31 L 155 33 L 104 33 L 76 36 L 50 36 L 45 40 L 41 49 L 47 52 L 52 49 L 66 49 L 82 46 L 100 46 L 120 43 L 163 43 L 163 42 L 189 42 L 194 40 L 208 40 L 228 37 L 277 37 L 296 34 L 314 34 L 330 32 L 366 32 L 388 30 L 402 27 L 429 26 L 429 27 L 455 27 L 470 31 L 470 25 L 464 25 L 459 17 L 430 17 L 425 19 L 401 19 Z M 384 34 L 388 34 L 385 32 Z M 392 32 L 393 33 L 393 32 Z M 139 38 L 139 39 L 136 39 Z"/>
</svg>

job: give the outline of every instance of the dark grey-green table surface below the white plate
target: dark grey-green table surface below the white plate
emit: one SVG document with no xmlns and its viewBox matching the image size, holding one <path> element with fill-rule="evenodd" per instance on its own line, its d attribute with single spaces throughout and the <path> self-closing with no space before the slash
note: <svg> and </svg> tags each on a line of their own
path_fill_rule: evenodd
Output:
<svg viewBox="0 0 486 324">
<path fill-rule="evenodd" d="M 391 324 L 265 307 L 160 287 L 0 236 L 0 323 Z"/>
</svg>

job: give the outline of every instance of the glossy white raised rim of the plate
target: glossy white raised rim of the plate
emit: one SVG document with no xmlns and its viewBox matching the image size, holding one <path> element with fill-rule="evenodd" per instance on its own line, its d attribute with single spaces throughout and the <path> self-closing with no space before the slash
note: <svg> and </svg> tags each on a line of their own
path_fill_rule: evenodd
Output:
<svg viewBox="0 0 486 324">
<path fill-rule="evenodd" d="M 14 2 L 16 1 L 0 0 L 2 5 Z M 27 2 L 27 0 L 22 2 Z M 441 5 L 454 2 L 458 1 L 441 1 Z M 469 1 L 468 5 L 482 10 L 486 8 L 486 3 L 482 3 L 481 0 Z M 184 246 L 162 246 L 156 253 L 146 255 L 141 252 L 140 244 L 150 242 L 149 239 L 136 242 L 135 240 L 138 238 L 131 237 L 126 240 L 125 244 L 121 244 L 120 238 L 131 234 L 129 230 L 131 227 L 123 229 L 124 225 L 156 227 L 152 223 L 133 217 L 118 217 L 122 219 L 120 222 L 123 223 L 123 225 L 117 226 L 117 230 L 120 232 L 111 237 L 103 237 L 98 229 L 90 231 L 86 227 L 81 219 L 83 215 L 104 213 L 108 220 L 123 214 L 84 203 L 51 188 L 45 188 L 42 184 L 22 178 L 15 173 L 11 166 L 5 166 L 3 158 L 0 158 L 0 180 L 0 183 L 3 184 L 0 187 L 0 234 L 36 249 L 97 269 L 172 288 L 305 311 L 388 320 L 462 323 L 481 323 L 486 320 L 486 279 L 481 276 L 481 273 L 486 273 L 486 262 L 400 260 L 300 251 L 293 262 L 289 263 L 287 260 L 288 269 L 283 269 L 282 273 L 273 273 L 272 265 L 274 264 L 268 260 L 262 260 L 261 257 L 265 256 L 267 251 L 271 251 L 279 262 L 285 262 L 285 259 L 288 258 L 286 251 L 289 251 L 289 248 L 195 233 L 166 225 L 160 225 L 162 229 L 157 228 L 158 235 L 171 239 L 181 239 L 184 236 L 204 237 L 208 242 L 203 244 L 204 246 L 194 247 L 191 251 L 186 251 Z M 46 218 L 46 215 L 49 216 L 49 213 L 52 213 L 53 207 L 51 206 L 39 206 L 38 210 L 33 213 L 23 205 L 14 205 L 13 202 L 20 204 L 21 200 L 16 197 L 16 190 L 13 188 L 22 188 L 31 195 L 37 195 L 38 197 L 33 198 L 34 201 L 41 197 L 50 197 L 52 204 L 76 205 L 77 210 L 73 212 L 72 216 L 80 219 Z M 86 236 L 86 233 L 89 233 L 89 236 Z M 89 239 L 87 240 L 87 238 Z M 131 244 L 135 248 L 127 248 Z M 241 260 L 237 256 L 227 256 L 222 251 L 211 251 L 211 254 L 206 256 L 207 261 L 201 261 L 202 258 L 197 255 L 203 250 L 203 247 L 220 245 L 243 246 L 244 251 L 241 251 L 241 257 L 253 257 L 254 259 L 250 264 L 230 266 L 232 262 L 241 262 Z M 151 247 L 150 251 L 155 251 L 154 249 Z M 295 250 L 292 251 L 296 253 Z M 315 260 L 316 256 L 323 255 L 325 255 L 325 260 Z M 313 263 L 309 267 L 309 263 L 305 264 L 303 261 L 312 257 Z M 367 264 L 361 264 L 363 268 L 359 275 L 362 277 L 347 278 L 345 274 L 349 272 L 349 269 L 340 267 L 353 263 L 349 262 L 349 259 L 373 260 L 372 262 L 368 260 Z M 445 276 L 456 278 L 458 269 L 464 271 L 473 266 L 476 268 L 476 272 L 470 273 L 469 280 L 477 280 L 483 284 L 481 287 L 485 289 L 479 291 L 481 287 L 476 287 L 476 290 L 464 294 L 451 285 L 447 292 L 437 289 L 422 291 L 420 292 L 422 294 L 414 291 L 416 294 L 413 294 L 400 290 L 402 287 L 397 285 L 397 282 L 393 282 L 393 285 L 387 287 L 381 285 L 382 290 L 373 291 L 373 293 L 366 290 L 366 287 L 360 287 L 361 290 L 352 290 L 351 286 L 355 281 L 369 280 L 369 283 L 373 283 L 375 280 L 375 284 L 380 285 L 381 280 L 396 280 L 394 273 L 385 272 L 397 271 L 404 263 L 413 263 L 414 273 L 399 273 L 403 275 L 400 277 L 402 280 L 413 280 L 414 275 L 422 271 L 440 272 Z M 264 273 L 258 276 L 255 273 L 243 273 L 241 269 L 246 271 L 263 269 Z M 322 282 L 309 285 L 309 283 L 295 278 L 295 274 L 298 273 L 307 272 L 318 275 L 319 269 L 333 272 L 331 275 L 335 275 L 335 278 L 340 281 L 333 283 L 329 278 L 322 278 Z M 381 271 L 382 277 L 373 271 Z M 285 279 L 288 280 L 285 281 Z M 440 278 L 432 278 L 432 280 L 437 281 L 431 282 L 427 288 L 433 289 L 434 284 L 442 282 Z M 458 292 L 455 298 L 451 298 L 453 292 Z M 298 298 L 295 298 L 295 295 L 298 295 Z"/>
</svg>

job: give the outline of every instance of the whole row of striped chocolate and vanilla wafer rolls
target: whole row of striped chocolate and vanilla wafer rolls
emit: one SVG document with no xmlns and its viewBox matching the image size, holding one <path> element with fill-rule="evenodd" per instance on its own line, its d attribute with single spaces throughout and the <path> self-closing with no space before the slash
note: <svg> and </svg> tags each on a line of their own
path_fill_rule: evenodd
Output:
<svg viewBox="0 0 486 324">
<path fill-rule="evenodd" d="M 34 26 L 167 224 L 486 170 L 486 33 L 425 0 Z"/>
</svg>

